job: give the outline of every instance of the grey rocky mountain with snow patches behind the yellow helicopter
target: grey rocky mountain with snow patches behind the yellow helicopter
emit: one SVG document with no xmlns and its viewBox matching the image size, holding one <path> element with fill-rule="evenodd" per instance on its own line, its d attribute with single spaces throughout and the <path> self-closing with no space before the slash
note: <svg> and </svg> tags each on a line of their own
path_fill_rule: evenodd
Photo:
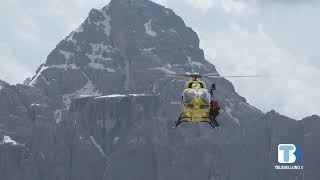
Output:
<svg viewBox="0 0 320 180">
<path fill-rule="evenodd" d="M 320 179 L 320 117 L 264 114 L 225 79 L 214 81 L 221 128 L 173 129 L 183 79 L 163 72 L 192 71 L 216 72 L 172 10 L 147 0 L 91 10 L 28 86 L 0 81 L 0 179 Z M 303 171 L 274 170 L 280 143 L 298 145 Z"/>
</svg>

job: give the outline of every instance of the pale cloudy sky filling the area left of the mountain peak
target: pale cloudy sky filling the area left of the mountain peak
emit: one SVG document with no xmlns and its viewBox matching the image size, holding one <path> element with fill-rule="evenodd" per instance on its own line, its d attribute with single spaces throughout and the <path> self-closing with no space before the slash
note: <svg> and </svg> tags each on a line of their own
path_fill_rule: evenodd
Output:
<svg viewBox="0 0 320 180">
<path fill-rule="evenodd" d="M 24 64 L 20 67 L 24 69 L 22 72 L 26 69 L 35 72 L 56 44 L 76 29 L 92 8 L 101 8 L 107 3 L 105 0 L 1 2 L 1 69 L 4 70 L 5 66 L 20 67 L 19 64 Z M 15 52 L 14 55 L 12 52 Z M 14 61 L 9 61 L 8 57 L 14 57 Z M 9 71 L 1 71 L 0 74 L 5 81 L 21 82 L 17 75 Z M 21 78 L 26 78 L 26 74 L 28 73 L 21 73 Z"/>
</svg>

